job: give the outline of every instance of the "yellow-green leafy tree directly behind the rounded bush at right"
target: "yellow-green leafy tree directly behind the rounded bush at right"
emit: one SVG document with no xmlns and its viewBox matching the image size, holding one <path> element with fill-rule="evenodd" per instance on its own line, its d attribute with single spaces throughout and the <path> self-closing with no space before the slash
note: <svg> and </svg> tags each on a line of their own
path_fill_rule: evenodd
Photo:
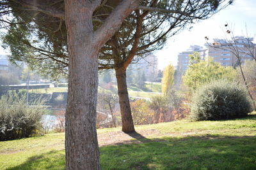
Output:
<svg viewBox="0 0 256 170">
<path fill-rule="evenodd" d="M 220 63 L 214 62 L 212 57 L 207 57 L 205 60 L 198 60 L 199 53 L 193 53 L 190 56 L 191 62 L 189 68 L 182 77 L 184 85 L 189 89 L 195 90 L 200 85 L 209 83 L 212 80 L 233 81 L 236 78 L 236 70 L 232 67 L 223 67 Z"/>
</svg>

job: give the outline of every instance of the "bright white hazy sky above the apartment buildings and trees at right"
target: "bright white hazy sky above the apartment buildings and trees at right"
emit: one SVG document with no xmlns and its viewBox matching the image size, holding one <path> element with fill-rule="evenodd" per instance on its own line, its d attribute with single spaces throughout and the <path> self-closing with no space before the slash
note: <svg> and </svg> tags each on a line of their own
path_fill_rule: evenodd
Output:
<svg viewBox="0 0 256 170">
<path fill-rule="evenodd" d="M 154 52 L 158 58 L 158 69 L 164 69 L 168 64 L 177 66 L 177 58 L 180 52 L 186 51 L 190 45 L 204 46 L 205 36 L 209 41 L 213 38 L 225 38 L 225 27 L 232 27 L 235 36 L 245 36 L 246 29 L 250 36 L 256 33 L 256 0 L 235 0 L 224 10 L 213 15 L 207 20 L 193 24 L 192 29 L 184 30 L 168 39 L 162 50 Z M 0 54 L 9 53 L 0 46 Z"/>
</svg>

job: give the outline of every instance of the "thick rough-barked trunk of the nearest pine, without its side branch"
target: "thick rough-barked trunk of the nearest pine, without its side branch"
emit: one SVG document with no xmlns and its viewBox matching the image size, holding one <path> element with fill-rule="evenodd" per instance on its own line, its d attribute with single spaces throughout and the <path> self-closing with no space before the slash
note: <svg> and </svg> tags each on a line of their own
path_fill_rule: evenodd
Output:
<svg viewBox="0 0 256 170">
<path fill-rule="evenodd" d="M 88 1 L 65 1 L 68 32 L 66 169 L 100 169 L 96 132 L 98 48 Z"/>
</svg>

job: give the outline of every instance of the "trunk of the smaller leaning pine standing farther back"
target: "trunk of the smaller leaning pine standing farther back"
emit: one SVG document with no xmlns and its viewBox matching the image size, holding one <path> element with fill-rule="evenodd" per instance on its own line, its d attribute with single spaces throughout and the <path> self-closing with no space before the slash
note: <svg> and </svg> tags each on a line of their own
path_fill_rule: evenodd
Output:
<svg viewBox="0 0 256 170">
<path fill-rule="evenodd" d="M 124 68 L 115 69 L 116 81 L 118 88 L 119 104 L 122 115 L 122 131 L 125 133 L 135 132 L 132 112 L 129 102 L 127 83 L 126 83 L 126 70 Z"/>
</svg>

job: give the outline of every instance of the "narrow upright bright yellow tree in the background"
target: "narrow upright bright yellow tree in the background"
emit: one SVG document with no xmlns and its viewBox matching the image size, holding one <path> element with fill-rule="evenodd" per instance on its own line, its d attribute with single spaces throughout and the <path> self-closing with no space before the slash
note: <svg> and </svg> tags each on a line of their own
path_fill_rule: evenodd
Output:
<svg viewBox="0 0 256 170">
<path fill-rule="evenodd" d="M 168 94 L 173 86 L 174 80 L 174 67 L 170 64 L 165 67 L 163 71 L 163 78 L 162 78 L 162 93 L 164 95 Z"/>
</svg>

